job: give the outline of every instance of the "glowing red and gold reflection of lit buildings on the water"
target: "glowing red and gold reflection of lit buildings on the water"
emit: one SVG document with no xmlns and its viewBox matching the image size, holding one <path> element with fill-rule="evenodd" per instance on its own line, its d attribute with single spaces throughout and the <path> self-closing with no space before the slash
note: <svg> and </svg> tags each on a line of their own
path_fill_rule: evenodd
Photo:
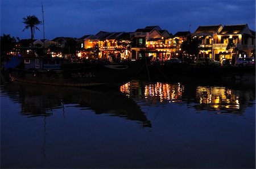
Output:
<svg viewBox="0 0 256 169">
<path fill-rule="evenodd" d="M 199 86 L 181 83 L 143 83 L 131 81 L 120 87 L 121 92 L 132 98 L 143 98 L 142 102 L 193 103 L 197 110 L 220 111 L 218 113 L 242 113 L 255 100 L 253 90 L 233 90 L 222 86 Z M 140 92 L 139 92 L 140 91 Z"/>
</svg>

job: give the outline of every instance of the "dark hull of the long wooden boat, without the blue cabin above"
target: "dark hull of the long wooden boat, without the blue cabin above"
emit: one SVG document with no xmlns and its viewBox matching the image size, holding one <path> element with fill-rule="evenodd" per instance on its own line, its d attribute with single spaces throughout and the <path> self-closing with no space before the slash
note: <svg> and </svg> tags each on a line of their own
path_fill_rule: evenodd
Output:
<svg viewBox="0 0 256 169">
<path fill-rule="evenodd" d="M 61 70 L 12 69 L 11 81 L 57 86 L 121 86 L 130 81 L 142 65 L 90 65 Z"/>
</svg>

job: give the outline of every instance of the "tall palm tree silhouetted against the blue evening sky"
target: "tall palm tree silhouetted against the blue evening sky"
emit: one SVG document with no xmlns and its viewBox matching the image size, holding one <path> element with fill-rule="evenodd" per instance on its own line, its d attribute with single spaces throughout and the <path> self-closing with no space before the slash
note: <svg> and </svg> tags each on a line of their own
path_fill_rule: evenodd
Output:
<svg viewBox="0 0 256 169">
<path fill-rule="evenodd" d="M 28 15 L 27 18 L 23 18 L 23 23 L 26 24 L 23 31 L 25 29 L 30 29 L 30 31 L 31 31 L 31 43 L 33 45 L 35 29 L 38 29 L 40 31 L 40 29 L 36 26 L 41 24 L 42 22 L 35 15 L 32 15 L 32 16 Z"/>
</svg>

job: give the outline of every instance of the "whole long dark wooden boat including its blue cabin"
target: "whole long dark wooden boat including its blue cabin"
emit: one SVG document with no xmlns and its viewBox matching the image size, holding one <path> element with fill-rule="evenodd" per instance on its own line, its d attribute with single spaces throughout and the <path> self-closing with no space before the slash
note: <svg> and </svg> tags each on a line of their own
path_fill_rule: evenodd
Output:
<svg viewBox="0 0 256 169">
<path fill-rule="evenodd" d="M 21 64 L 9 69 L 11 81 L 58 86 L 121 86 L 146 65 L 146 60 L 120 64 L 68 62 L 61 58 L 20 57 Z"/>
</svg>

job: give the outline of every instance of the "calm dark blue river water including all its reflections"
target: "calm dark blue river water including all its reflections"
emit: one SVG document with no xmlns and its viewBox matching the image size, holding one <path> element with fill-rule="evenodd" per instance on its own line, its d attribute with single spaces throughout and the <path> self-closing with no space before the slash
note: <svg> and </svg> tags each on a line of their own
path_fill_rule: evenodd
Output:
<svg viewBox="0 0 256 169">
<path fill-rule="evenodd" d="M 1 86 L 1 168 L 254 167 L 254 87 Z"/>
</svg>

